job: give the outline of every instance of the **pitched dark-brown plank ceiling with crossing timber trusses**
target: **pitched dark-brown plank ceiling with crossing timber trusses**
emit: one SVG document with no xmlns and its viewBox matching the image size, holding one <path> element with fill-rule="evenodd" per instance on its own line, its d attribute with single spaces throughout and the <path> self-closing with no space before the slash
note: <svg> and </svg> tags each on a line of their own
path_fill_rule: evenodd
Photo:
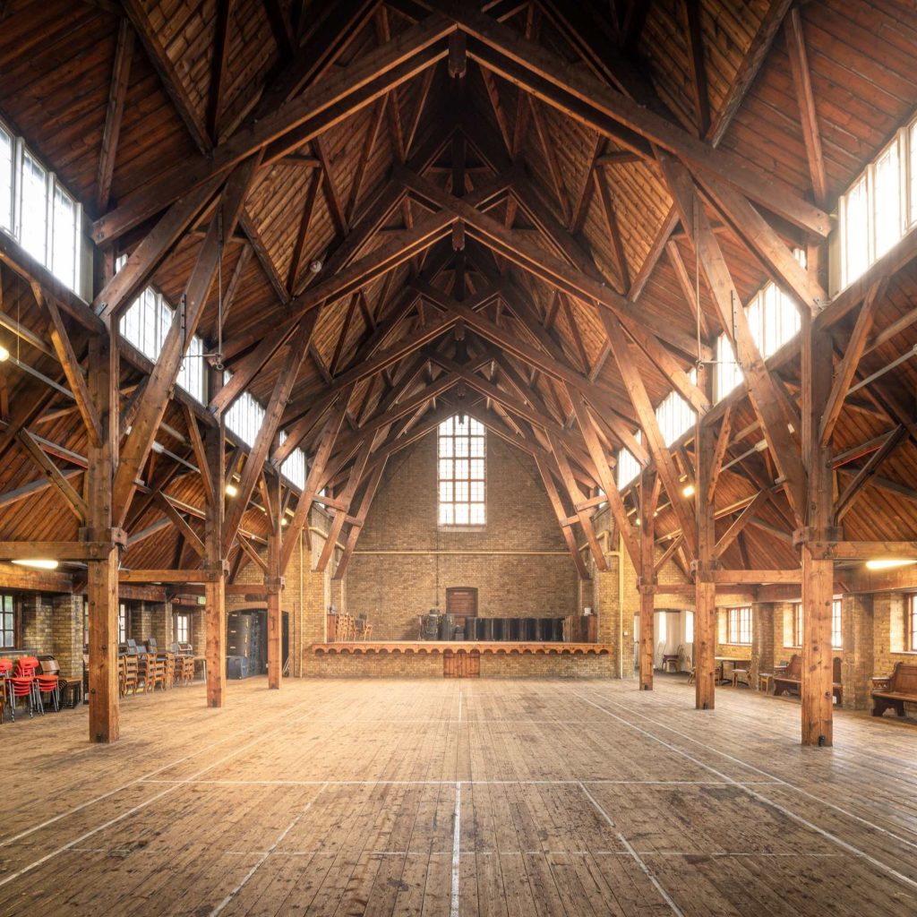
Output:
<svg viewBox="0 0 917 917">
<path fill-rule="evenodd" d="M 348 481 L 359 496 L 386 450 L 460 405 L 543 461 L 564 513 L 581 516 L 576 503 L 602 484 L 597 460 L 621 446 L 658 458 L 633 439 L 641 405 L 674 386 L 707 406 L 685 373 L 711 359 L 723 321 L 697 221 L 743 302 L 775 279 L 817 310 L 817 276 L 794 272 L 790 249 L 823 238 L 837 196 L 917 105 L 917 13 L 894 0 L 11 0 L 2 16 L 0 113 L 83 202 L 102 248 L 131 256 L 134 285 L 122 273 L 98 310 L 117 312 L 148 281 L 180 303 L 222 183 L 248 164 L 197 330 L 211 350 L 223 342 L 226 395 L 245 387 L 267 404 L 282 389 L 289 437 L 275 460 L 296 445 L 315 456 L 337 411 L 333 498 Z M 686 200 L 701 213 L 692 225 Z M 900 323 L 871 340 L 861 375 L 915 343 L 912 273 L 889 282 L 877 327 Z M 21 345 L 28 362 L 61 377 L 28 284 L 6 270 L 2 281 L 4 311 L 35 337 Z M 837 327 L 839 347 L 852 324 Z M 790 402 L 797 363 L 775 373 Z M 834 448 L 855 458 L 838 465 L 839 496 L 883 437 L 910 429 L 912 372 L 845 403 Z M 124 371 L 126 398 L 142 378 Z M 14 403 L 35 381 L 11 371 L 8 385 Z M 65 400 L 46 402 L 28 423 L 78 482 L 83 427 Z M 186 411 L 171 403 L 163 419 L 160 441 L 193 460 Z M 735 404 L 727 462 L 761 439 L 760 420 Z M 917 450 L 897 436 L 845 508 L 856 537 L 917 535 Z M 691 476 L 691 450 L 668 459 L 670 482 Z M 196 525 L 198 477 L 153 458 L 145 480 Z M 723 534 L 771 491 L 728 539 L 730 566 L 798 563 L 779 471 L 764 450 L 724 473 Z M 8 449 L 5 537 L 76 525 L 58 490 L 19 495 L 35 472 Z M 680 502 L 663 499 L 659 534 L 683 527 Z M 243 527 L 258 538 L 254 503 Z M 164 518 L 135 500 L 128 566 L 196 560 Z"/>
</svg>

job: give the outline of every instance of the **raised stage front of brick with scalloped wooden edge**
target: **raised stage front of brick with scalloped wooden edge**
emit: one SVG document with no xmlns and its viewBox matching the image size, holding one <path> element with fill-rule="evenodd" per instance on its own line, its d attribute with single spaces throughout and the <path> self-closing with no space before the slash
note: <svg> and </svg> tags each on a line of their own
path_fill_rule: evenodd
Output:
<svg viewBox="0 0 917 917">
<path fill-rule="evenodd" d="M 616 666 L 604 643 L 359 640 L 303 653 L 303 674 L 327 678 L 610 678 Z"/>
</svg>

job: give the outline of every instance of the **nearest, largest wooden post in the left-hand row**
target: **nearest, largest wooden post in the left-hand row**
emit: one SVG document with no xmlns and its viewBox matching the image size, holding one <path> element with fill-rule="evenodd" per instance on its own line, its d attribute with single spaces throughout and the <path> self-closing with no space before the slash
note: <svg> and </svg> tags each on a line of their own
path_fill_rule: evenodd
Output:
<svg viewBox="0 0 917 917">
<path fill-rule="evenodd" d="M 118 444 L 117 348 L 109 333 L 89 341 L 89 400 L 99 418 L 99 442 L 90 438 L 83 541 L 108 542 L 103 557 L 88 561 L 89 741 L 116 742 L 120 735 L 117 672 L 118 548 L 112 528 L 112 485 Z"/>
</svg>

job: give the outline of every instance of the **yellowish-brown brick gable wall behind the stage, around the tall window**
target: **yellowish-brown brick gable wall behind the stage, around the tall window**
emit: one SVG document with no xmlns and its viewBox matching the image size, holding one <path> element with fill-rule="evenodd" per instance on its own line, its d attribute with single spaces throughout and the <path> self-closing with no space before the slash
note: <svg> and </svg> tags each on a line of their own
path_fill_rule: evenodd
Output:
<svg viewBox="0 0 917 917">
<path fill-rule="evenodd" d="M 487 450 L 481 529 L 436 525 L 435 434 L 386 470 L 346 576 L 347 610 L 367 614 L 374 637 L 415 639 L 417 615 L 445 610 L 450 586 L 476 588 L 481 616 L 560 617 L 577 610 L 576 569 L 534 463 L 494 436 Z M 372 551 L 412 553 L 366 553 Z M 461 551 L 481 553 L 447 553 Z"/>
</svg>

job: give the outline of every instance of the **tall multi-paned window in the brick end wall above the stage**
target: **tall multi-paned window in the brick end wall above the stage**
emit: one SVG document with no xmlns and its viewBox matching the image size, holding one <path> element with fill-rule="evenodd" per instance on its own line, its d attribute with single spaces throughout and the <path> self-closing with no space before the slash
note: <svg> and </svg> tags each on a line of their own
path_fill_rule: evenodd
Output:
<svg viewBox="0 0 917 917">
<path fill-rule="evenodd" d="M 439 525 L 484 525 L 484 427 L 450 417 L 437 436 Z"/>
</svg>

